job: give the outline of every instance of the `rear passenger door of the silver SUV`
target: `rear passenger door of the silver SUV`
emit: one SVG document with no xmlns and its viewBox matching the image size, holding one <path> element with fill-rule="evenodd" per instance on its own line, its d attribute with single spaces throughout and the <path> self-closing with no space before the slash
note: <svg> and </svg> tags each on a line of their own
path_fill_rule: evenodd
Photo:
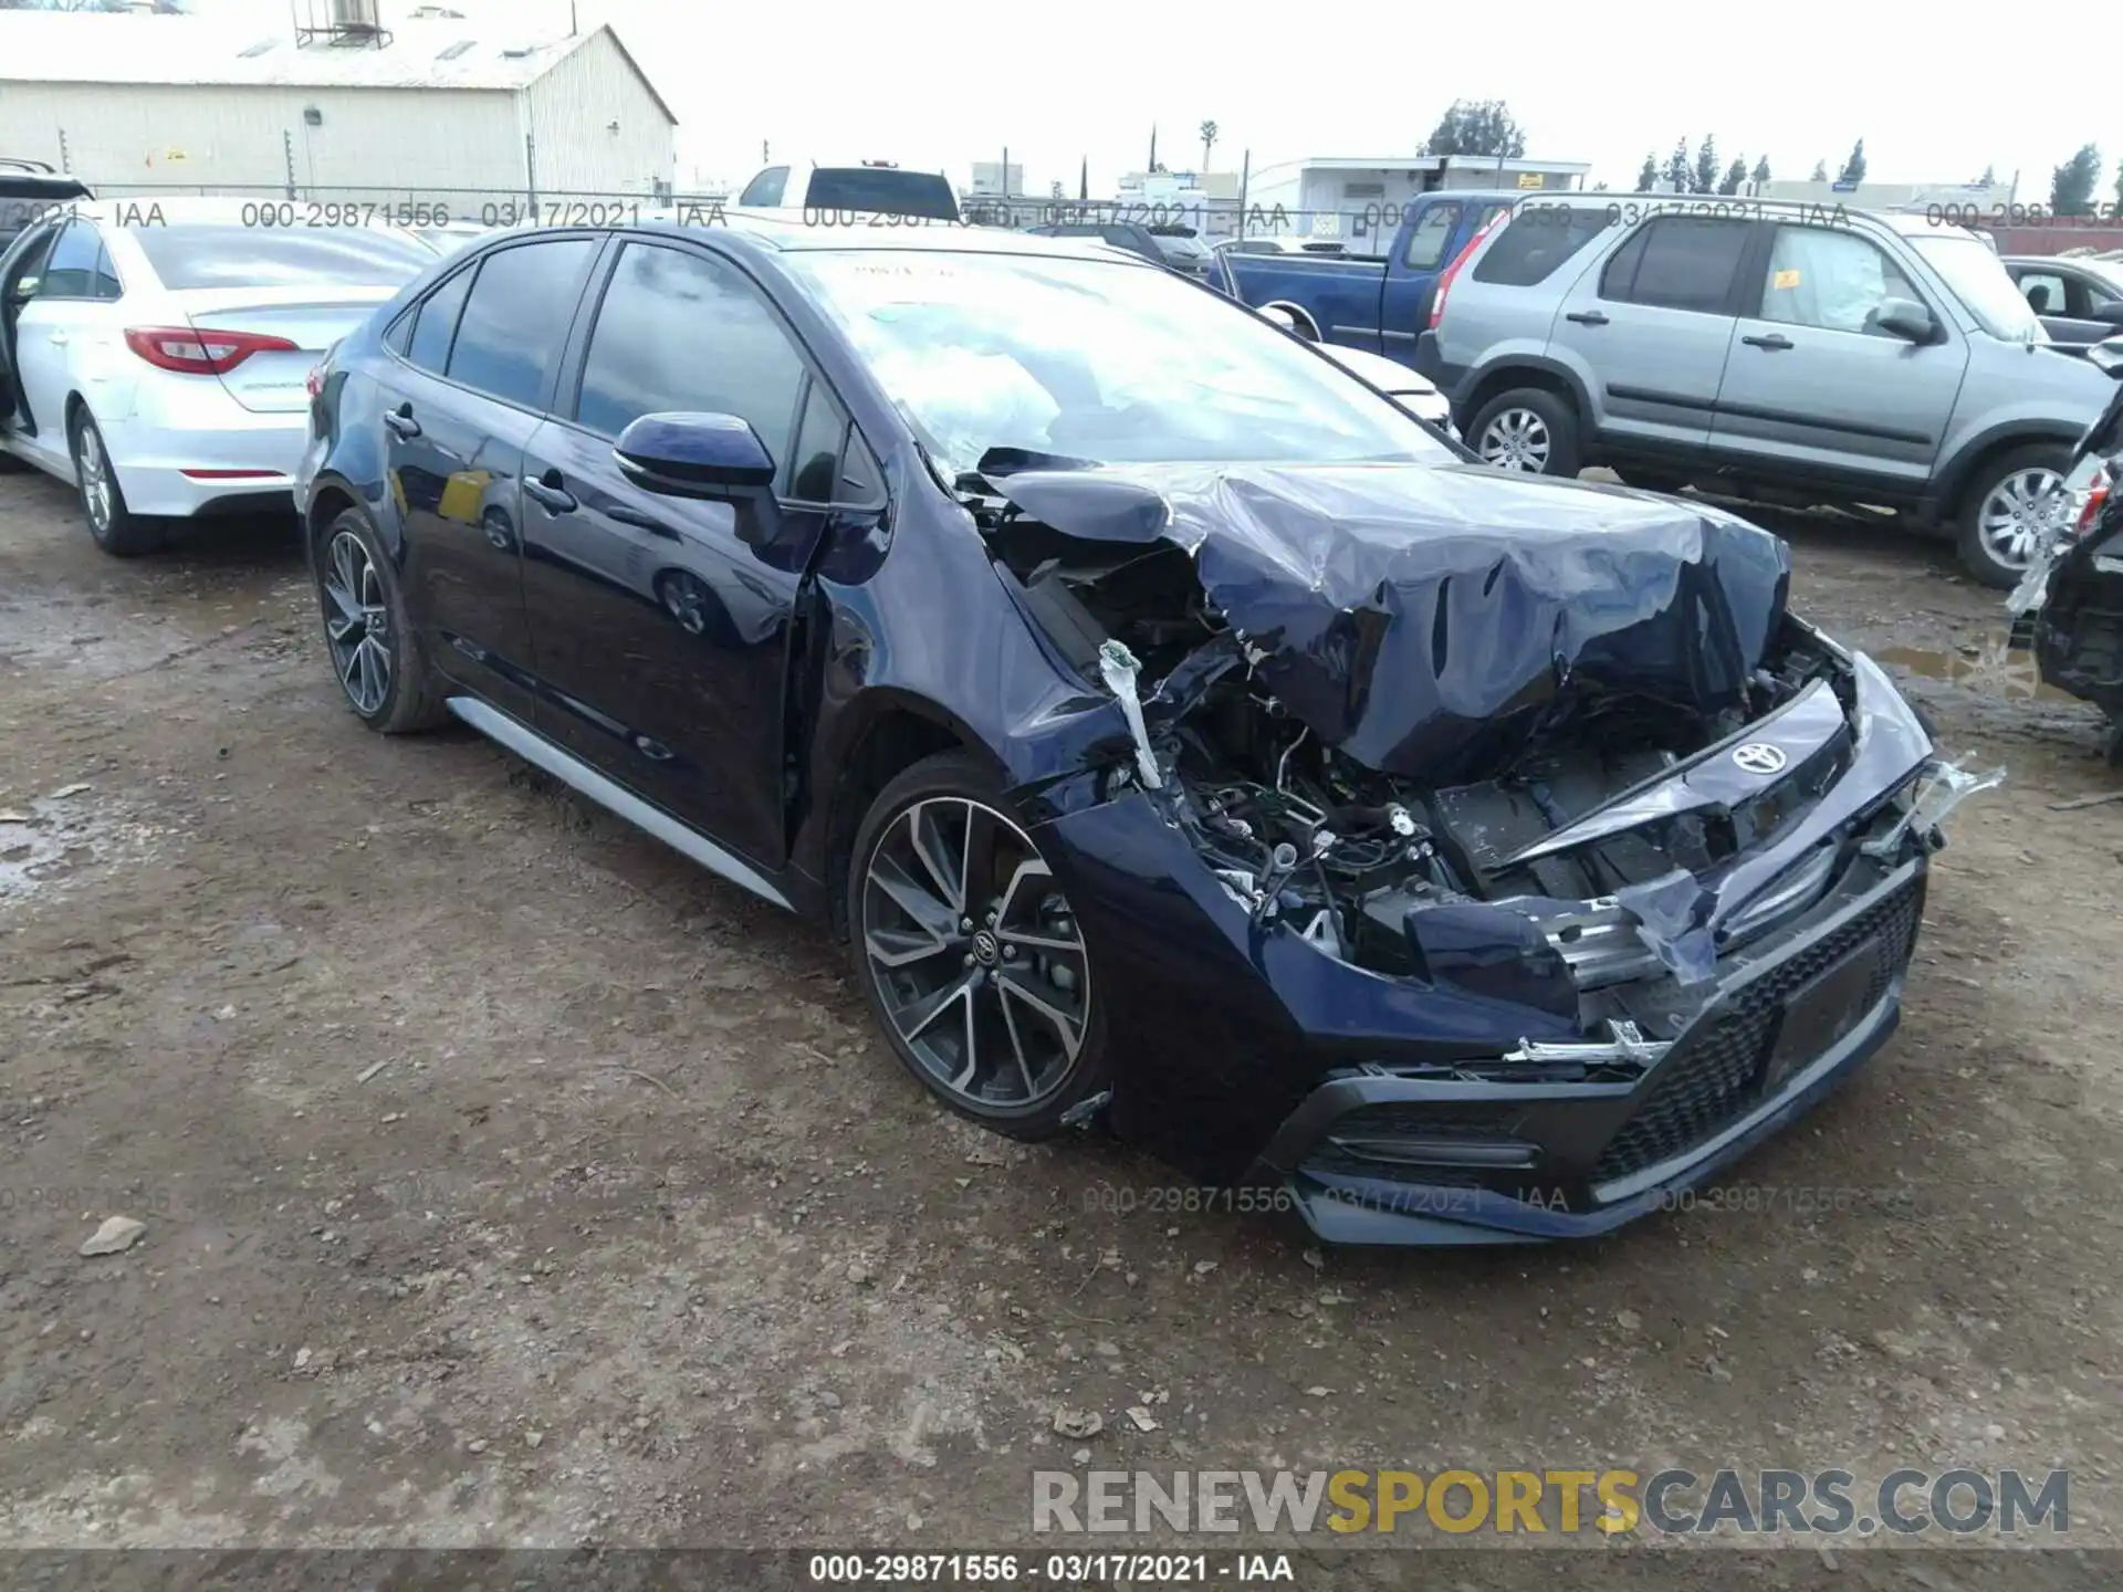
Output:
<svg viewBox="0 0 2123 1592">
<path fill-rule="evenodd" d="M 1709 444 L 1754 236 L 1745 219 L 1654 214 L 1565 293 L 1550 346 L 1586 378 L 1605 437 L 1662 454 Z"/>
</svg>

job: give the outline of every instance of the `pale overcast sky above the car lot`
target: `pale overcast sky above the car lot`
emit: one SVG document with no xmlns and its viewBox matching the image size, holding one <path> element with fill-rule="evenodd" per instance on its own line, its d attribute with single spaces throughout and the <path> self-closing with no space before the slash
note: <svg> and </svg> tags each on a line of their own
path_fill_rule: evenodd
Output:
<svg viewBox="0 0 2123 1592">
<path fill-rule="evenodd" d="M 310 0 L 293 0 L 306 6 Z M 323 0 L 318 0 L 323 4 Z M 495 32 L 565 34 L 569 0 L 448 0 Z M 287 28 L 289 0 L 197 0 Z M 692 168 L 743 180 L 760 142 L 777 153 L 900 159 L 964 180 L 977 159 L 1025 168 L 1028 187 L 1108 195 L 1140 170 L 1157 123 L 1166 166 L 1259 168 L 1304 155 L 1410 155 L 1454 98 L 1503 98 L 1526 153 L 1592 161 L 1594 180 L 1635 185 L 1645 151 L 1718 136 L 1720 163 L 1768 155 L 1777 176 L 1815 159 L 1834 172 L 1866 140 L 1872 180 L 1966 183 L 1985 166 L 2019 200 L 2049 197 L 2051 168 L 2104 134 L 2123 153 L 2106 96 L 2055 55 L 2010 64 L 1979 32 L 1926 25 L 1887 6 L 1781 0 L 1722 8 L 1635 4 L 1410 4 L 1310 8 L 1045 0 L 575 0 L 609 21 L 679 117 L 679 180 Z M 384 25 L 412 0 L 382 0 Z M 1259 25 L 1272 23 L 1272 25 Z M 2000 34 L 1989 32 L 1998 38 Z M 2013 40 L 2006 49 L 2034 49 Z M 1996 85 L 1985 91 L 1983 83 Z M 2040 87 L 2047 85 L 2047 87 Z M 2036 89 L 2036 91 L 2030 91 Z M 2108 153 L 2108 151 L 2104 151 Z M 2112 200 L 2115 166 L 2102 172 Z"/>
</svg>

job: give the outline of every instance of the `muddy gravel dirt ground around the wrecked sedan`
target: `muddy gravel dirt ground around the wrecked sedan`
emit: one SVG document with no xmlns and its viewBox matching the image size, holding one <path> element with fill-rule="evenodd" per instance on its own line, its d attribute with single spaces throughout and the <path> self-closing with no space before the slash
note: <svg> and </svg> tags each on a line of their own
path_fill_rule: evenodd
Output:
<svg viewBox="0 0 2123 1592">
<path fill-rule="evenodd" d="M 0 478 L 0 1539 L 991 1547 L 1087 1448 L 2068 1467 L 2070 1539 L 2115 1543 L 2123 804 L 2053 802 L 2119 777 L 1947 550 L 1777 524 L 1802 611 L 2010 766 L 1940 855 L 1900 1036 L 1728 1178 L 1764 1208 L 1321 1254 L 1108 1210 L 1176 1178 L 932 1108 L 822 934 L 471 734 L 367 734 L 287 524 L 117 563 L 70 490 Z M 81 1257 L 106 1216 L 144 1233 Z M 2004 1558 L 2106 1579 L 1919 1575 Z"/>
</svg>

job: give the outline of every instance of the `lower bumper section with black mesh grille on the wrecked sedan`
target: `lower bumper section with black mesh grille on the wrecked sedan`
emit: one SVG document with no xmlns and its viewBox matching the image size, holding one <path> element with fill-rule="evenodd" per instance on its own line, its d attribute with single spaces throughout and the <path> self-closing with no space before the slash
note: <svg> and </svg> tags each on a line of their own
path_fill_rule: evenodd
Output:
<svg viewBox="0 0 2123 1592">
<path fill-rule="evenodd" d="M 1894 1032 L 1928 860 L 1860 855 L 1830 894 L 1720 966 L 1664 1055 L 1601 1083 L 1329 1076 L 1253 1170 L 1357 1244 L 1607 1233 L 1811 1108 Z"/>
</svg>

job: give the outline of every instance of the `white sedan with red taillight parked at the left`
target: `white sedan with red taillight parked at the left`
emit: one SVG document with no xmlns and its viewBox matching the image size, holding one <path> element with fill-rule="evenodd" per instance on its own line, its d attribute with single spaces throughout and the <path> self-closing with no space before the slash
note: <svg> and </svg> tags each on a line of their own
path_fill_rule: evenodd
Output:
<svg viewBox="0 0 2123 1592">
<path fill-rule="evenodd" d="M 293 505 L 310 367 L 435 263 L 382 225 L 261 225 L 278 210 L 100 200 L 0 257 L 0 456 L 72 482 L 104 552 Z"/>
</svg>

